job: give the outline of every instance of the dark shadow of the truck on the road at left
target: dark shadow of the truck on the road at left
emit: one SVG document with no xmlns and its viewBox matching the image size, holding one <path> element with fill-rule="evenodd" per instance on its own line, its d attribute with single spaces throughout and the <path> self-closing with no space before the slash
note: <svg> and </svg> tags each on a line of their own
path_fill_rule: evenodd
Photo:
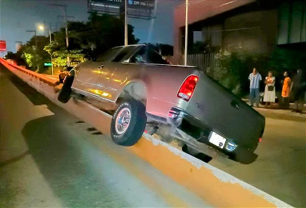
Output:
<svg viewBox="0 0 306 208">
<path fill-rule="evenodd" d="M 101 165 L 92 161 L 94 147 L 78 138 L 67 125 L 59 115 L 52 115 L 29 121 L 22 129 L 29 153 L 53 193 L 63 206 L 126 206 L 123 199 L 111 193 L 106 178 L 101 177 L 102 167 L 100 172 L 93 171 L 92 166 Z M 94 157 L 101 155 L 97 153 Z"/>
</svg>

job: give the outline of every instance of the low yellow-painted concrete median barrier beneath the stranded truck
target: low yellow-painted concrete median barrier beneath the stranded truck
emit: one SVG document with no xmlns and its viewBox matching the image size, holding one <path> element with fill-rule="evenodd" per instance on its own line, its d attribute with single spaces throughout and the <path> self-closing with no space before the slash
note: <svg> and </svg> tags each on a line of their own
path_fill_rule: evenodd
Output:
<svg viewBox="0 0 306 208">
<path fill-rule="evenodd" d="M 98 131 L 110 134 L 111 115 L 82 100 L 71 99 L 66 104 L 60 103 L 57 101 L 58 90 L 47 77 L 32 71 L 29 72 L 29 70 L 22 67 L 8 64 L 3 59 L 0 59 L 0 62 L 58 106 L 82 118 Z M 36 79 L 31 79 L 31 77 Z M 45 80 L 42 81 L 42 79 Z M 42 82 L 44 85 L 37 82 Z M 104 122 L 104 124 L 101 125 L 101 122 Z M 150 135 L 144 134 L 138 143 L 127 148 L 214 206 L 291 207 L 291 205 Z"/>
</svg>

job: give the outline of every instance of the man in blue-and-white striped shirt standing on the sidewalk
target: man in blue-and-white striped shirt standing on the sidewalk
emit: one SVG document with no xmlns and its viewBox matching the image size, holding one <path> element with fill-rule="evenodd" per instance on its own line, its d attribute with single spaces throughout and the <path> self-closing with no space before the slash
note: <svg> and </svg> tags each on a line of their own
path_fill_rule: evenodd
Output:
<svg viewBox="0 0 306 208">
<path fill-rule="evenodd" d="M 256 68 L 253 68 L 253 73 L 250 73 L 248 77 L 250 81 L 250 101 L 251 106 L 254 106 L 254 100 L 256 106 L 259 107 L 259 83 L 262 81 L 262 76 L 258 73 Z"/>
</svg>

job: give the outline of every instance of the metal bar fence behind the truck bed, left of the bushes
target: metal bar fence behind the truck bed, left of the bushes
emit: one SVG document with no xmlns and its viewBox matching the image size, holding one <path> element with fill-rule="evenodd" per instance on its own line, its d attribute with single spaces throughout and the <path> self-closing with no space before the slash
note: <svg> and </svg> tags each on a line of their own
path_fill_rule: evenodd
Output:
<svg viewBox="0 0 306 208">
<path fill-rule="evenodd" d="M 208 69 L 212 69 L 216 65 L 214 53 L 206 54 L 190 54 L 187 55 L 187 65 L 196 66 L 199 69 L 206 72 Z M 170 57 L 172 64 L 184 65 L 184 55 L 179 57 Z"/>
</svg>

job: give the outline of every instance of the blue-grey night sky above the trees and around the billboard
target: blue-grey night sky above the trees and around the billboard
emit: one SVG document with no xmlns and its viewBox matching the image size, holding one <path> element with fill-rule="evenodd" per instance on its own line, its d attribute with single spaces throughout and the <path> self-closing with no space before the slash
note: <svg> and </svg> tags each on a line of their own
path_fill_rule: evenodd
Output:
<svg viewBox="0 0 306 208">
<path fill-rule="evenodd" d="M 134 34 L 140 43 L 173 44 L 173 9 L 184 0 L 156 0 L 157 17 L 154 20 L 129 18 L 129 23 L 135 27 Z M 37 35 L 47 35 L 49 23 L 52 30 L 63 26 L 63 12 L 59 7 L 48 4 L 66 4 L 68 20 L 87 21 L 87 0 L 0 0 L 0 39 L 6 40 L 7 50 L 15 52 L 15 41 L 27 42 L 34 33 L 27 30 L 37 30 Z M 45 32 L 38 31 L 37 25 L 46 25 Z"/>
</svg>

